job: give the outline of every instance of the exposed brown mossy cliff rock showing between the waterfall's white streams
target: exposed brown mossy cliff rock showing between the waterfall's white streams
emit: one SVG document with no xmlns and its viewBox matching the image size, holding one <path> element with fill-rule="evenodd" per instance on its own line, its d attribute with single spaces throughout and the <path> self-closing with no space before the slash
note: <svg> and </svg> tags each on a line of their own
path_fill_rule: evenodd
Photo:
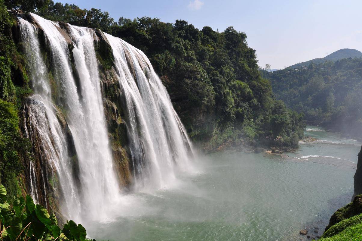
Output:
<svg viewBox="0 0 362 241">
<path fill-rule="evenodd" d="M 21 131 L 24 137 L 30 140 L 31 153 L 29 156 L 24 156 L 23 166 L 24 170 L 21 175 L 24 183 L 24 191 L 31 194 L 35 201 L 39 204 L 45 206 L 48 210 L 54 211 L 58 214 L 60 220 L 63 218 L 59 216 L 60 213 L 60 203 L 63 198 L 64 191 L 62 191 L 61 183 L 59 183 L 59 173 L 56 171 L 59 169 L 57 163 L 54 162 L 55 158 L 59 158 L 61 155 L 68 156 L 69 166 L 71 167 L 71 175 L 73 180 L 75 180 L 75 190 L 80 188 L 80 169 L 79 169 L 79 160 L 76 152 L 75 143 L 71 134 L 71 130 L 67 123 L 67 114 L 66 106 L 62 104 L 62 96 L 60 92 L 62 91 L 63 86 L 59 86 L 56 81 L 56 69 L 54 69 L 54 60 L 51 55 L 51 49 L 49 40 L 44 34 L 43 29 L 37 23 L 32 15 L 21 14 L 19 12 L 13 12 L 16 16 L 21 16 L 22 19 L 27 20 L 29 23 L 33 24 L 38 33 L 39 45 L 41 47 L 41 56 L 44 59 L 44 64 L 49 69 L 46 78 L 49 79 L 51 87 L 51 99 L 52 105 L 55 109 L 54 118 L 57 119 L 59 123 L 59 131 L 64 134 L 64 140 L 66 143 L 63 143 L 66 146 L 66 152 L 64 150 L 58 150 L 56 148 L 56 142 L 59 142 L 56 139 L 55 135 L 52 135 L 50 131 L 49 119 L 52 117 L 49 116 L 46 109 L 49 109 L 49 106 L 45 106 L 42 103 L 42 98 L 37 95 L 33 95 L 32 91 L 29 91 L 28 94 L 21 96 L 19 99 L 20 107 L 20 117 L 21 117 Z M 16 19 L 16 17 L 14 17 Z M 18 46 L 18 51 L 24 55 L 26 59 L 26 53 L 24 45 L 24 37 L 21 37 L 20 33 L 20 23 L 17 23 L 12 28 L 13 40 Z M 69 58 L 70 64 L 73 69 L 73 76 L 76 80 L 76 85 L 80 85 L 79 77 L 76 72 L 75 59 L 72 54 L 72 49 L 74 48 L 73 42 L 76 40 L 72 39 L 72 35 L 69 29 L 69 25 L 59 22 L 58 31 L 63 35 L 68 44 L 69 49 Z M 117 74 L 113 66 L 113 55 L 111 47 L 106 40 L 104 34 L 95 30 L 94 36 L 94 48 L 96 51 L 96 57 L 98 61 L 99 69 L 99 80 L 102 94 L 103 109 L 105 115 L 106 128 L 108 130 L 108 139 L 110 141 L 109 146 L 111 148 L 111 155 L 113 159 L 113 167 L 119 182 L 119 186 L 122 188 L 129 188 L 132 180 L 131 175 L 131 166 L 130 166 L 130 155 L 129 151 L 126 150 L 128 144 L 127 139 L 127 130 L 124 122 L 124 113 L 121 95 L 121 90 L 119 88 L 119 82 L 117 79 Z M 27 76 L 30 75 L 29 65 L 31 61 L 24 61 L 24 74 Z M 37 81 L 30 78 L 30 83 Z M 38 77 L 38 76 L 37 76 Z M 30 86 L 31 87 L 31 86 Z M 32 87 L 31 87 L 32 88 Z M 45 132 L 46 140 L 44 140 Z M 64 189 L 64 188 L 63 188 Z M 78 192 L 78 191 L 76 191 Z"/>
</svg>

